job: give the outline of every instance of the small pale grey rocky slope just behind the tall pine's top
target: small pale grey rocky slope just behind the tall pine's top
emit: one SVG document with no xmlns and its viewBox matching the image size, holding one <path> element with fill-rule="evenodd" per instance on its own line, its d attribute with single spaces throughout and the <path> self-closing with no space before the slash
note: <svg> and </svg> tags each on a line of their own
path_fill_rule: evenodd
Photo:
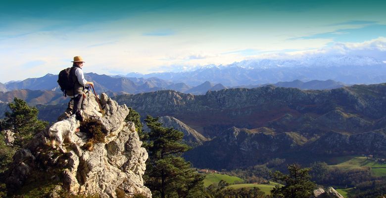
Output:
<svg viewBox="0 0 386 198">
<path fill-rule="evenodd" d="M 183 141 L 191 147 L 202 145 L 202 143 L 209 140 L 174 117 L 162 116 L 159 117 L 158 122 L 162 123 L 163 127 L 172 127 L 175 130 L 182 131 L 184 133 Z"/>
</svg>

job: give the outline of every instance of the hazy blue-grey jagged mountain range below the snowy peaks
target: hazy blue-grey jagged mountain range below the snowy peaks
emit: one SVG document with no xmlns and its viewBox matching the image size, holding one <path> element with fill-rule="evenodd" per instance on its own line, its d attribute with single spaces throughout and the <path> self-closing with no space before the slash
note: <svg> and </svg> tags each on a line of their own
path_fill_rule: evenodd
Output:
<svg viewBox="0 0 386 198">
<path fill-rule="evenodd" d="M 207 91 L 218 91 L 227 88 L 255 88 L 260 86 L 265 86 L 267 84 L 259 85 L 239 85 L 236 87 L 226 87 L 220 83 L 215 84 L 209 81 L 205 81 L 202 84 L 197 86 L 189 86 L 185 83 L 172 83 L 169 81 L 161 80 L 156 77 L 150 78 L 129 78 L 129 77 L 120 77 L 120 76 L 107 76 L 99 75 L 96 73 L 87 73 L 85 78 L 88 81 L 94 82 L 94 87 L 97 93 L 105 92 L 108 96 L 117 96 L 123 94 L 138 94 L 144 92 L 153 92 L 158 90 L 174 90 L 182 93 L 190 93 L 193 95 L 204 95 Z M 60 89 L 57 85 L 57 75 L 47 74 L 40 78 L 29 78 L 23 81 L 18 82 L 8 82 L 5 85 L 0 84 L 0 90 L 13 91 L 13 90 L 47 90 L 55 91 L 60 93 Z M 334 89 L 344 86 L 343 83 L 336 82 L 333 80 L 327 81 L 318 81 L 313 80 L 309 82 L 302 82 L 300 80 L 295 80 L 292 82 L 279 82 L 273 84 L 277 87 L 293 87 L 299 89 Z M 12 94 L 9 94 L 12 95 Z M 50 93 L 50 95 L 52 95 Z M 50 102 L 47 102 L 50 103 Z"/>
</svg>

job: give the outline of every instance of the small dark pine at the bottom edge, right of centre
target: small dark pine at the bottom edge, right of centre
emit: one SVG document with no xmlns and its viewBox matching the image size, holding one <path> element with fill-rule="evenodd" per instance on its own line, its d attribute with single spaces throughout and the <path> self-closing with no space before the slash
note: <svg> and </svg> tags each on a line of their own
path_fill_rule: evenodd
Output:
<svg viewBox="0 0 386 198">
<path fill-rule="evenodd" d="M 276 186 L 272 191 L 274 198 L 309 198 L 315 188 L 315 183 L 311 182 L 308 174 L 309 168 L 301 168 L 298 164 L 287 166 L 288 175 L 276 171 L 271 177 L 276 181 L 285 182 L 285 186 Z"/>
</svg>

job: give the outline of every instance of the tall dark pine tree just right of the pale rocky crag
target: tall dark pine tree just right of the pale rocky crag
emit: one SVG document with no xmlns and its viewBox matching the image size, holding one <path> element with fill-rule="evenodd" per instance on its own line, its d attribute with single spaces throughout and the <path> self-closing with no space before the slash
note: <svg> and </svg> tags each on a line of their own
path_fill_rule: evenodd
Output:
<svg viewBox="0 0 386 198">
<path fill-rule="evenodd" d="M 145 119 L 150 129 L 146 145 L 149 159 L 146 162 L 145 185 L 154 198 L 202 197 L 204 177 L 181 157 L 190 149 L 182 143 L 184 134 L 162 127 L 157 120 L 149 115 Z"/>
</svg>

